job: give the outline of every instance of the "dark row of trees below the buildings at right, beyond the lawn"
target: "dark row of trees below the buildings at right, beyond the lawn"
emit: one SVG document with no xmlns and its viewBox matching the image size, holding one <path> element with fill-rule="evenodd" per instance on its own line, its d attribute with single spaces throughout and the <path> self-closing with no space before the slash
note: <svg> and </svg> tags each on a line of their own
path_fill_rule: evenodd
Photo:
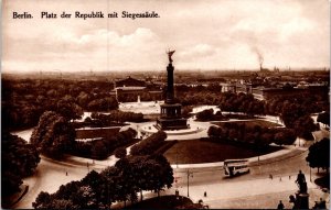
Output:
<svg viewBox="0 0 331 210">
<path fill-rule="evenodd" d="M 318 100 L 318 98 L 313 97 L 306 97 L 305 99 L 298 96 L 292 98 L 279 97 L 270 99 L 269 101 L 259 101 L 255 99 L 253 95 L 224 92 L 221 96 L 220 108 L 222 111 L 243 112 L 252 117 L 255 114 L 279 115 L 287 128 L 295 129 L 298 136 L 311 140 L 311 132 L 318 130 L 319 126 L 314 124 L 310 114 L 325 108 L 323 106 L 317 106 L 323 103 L 312 102 L 313 99 Z M 275 109 L 275 106 L 277 106 L 277 109 Z M 206 117 L 205 120 L 207 119 Z M 213 120 L 213 115 L 211 114 L 210 120 Z M 325 117 L 323 122 L 328 123 Z"/>
</svg>

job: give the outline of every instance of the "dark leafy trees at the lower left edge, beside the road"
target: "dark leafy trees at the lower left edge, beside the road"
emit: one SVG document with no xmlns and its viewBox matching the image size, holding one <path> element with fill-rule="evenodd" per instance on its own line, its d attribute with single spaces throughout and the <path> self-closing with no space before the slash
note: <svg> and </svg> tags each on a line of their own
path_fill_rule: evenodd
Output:
<svg viewBox="0 0 331 210">
<path fill-rule="evenodd" d="M 22 178 L 32 175 L 39 162 L 39 152 L 32 144 L 28 144 L 17 135 L 1 132 L 2 201 L 6 197 L 20 191 Z"/>
</svg>

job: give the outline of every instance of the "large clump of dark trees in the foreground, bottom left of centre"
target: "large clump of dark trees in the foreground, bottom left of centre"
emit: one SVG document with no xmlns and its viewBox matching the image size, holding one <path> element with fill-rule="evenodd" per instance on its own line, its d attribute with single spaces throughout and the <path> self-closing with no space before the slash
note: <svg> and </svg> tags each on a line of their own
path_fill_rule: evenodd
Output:
<svg viewBox="0 0 331 210">
<path fill-rule="evenodd" d="M 34 209 L 109 209 L 111 203 L 137 201 L 142 190 L 170 188 L 173 170 L 163 156 L 127 156 L 102 173 L 92 170 L 79 181 L 62 185 L 54 194 L 40 192 Z"/>
</svg>

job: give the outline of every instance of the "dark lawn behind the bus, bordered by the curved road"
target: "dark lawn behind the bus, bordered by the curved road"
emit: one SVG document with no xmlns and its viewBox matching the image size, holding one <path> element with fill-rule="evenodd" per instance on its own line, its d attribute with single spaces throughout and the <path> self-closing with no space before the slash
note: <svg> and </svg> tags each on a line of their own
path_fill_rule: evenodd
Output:
<svg viewBox="0 0 331 210">
<path fill-rule="evenodd" d="M 222 144 L 202 140 L 179 141 L 163 155 L 171 164 L 200 164 L 223 162 L 229 158 L 248 158 L 268 154 L 280 150 L 279 146 L 269 146 L 264 152 L 258 153 L 253 148 Z"/>
</svg>

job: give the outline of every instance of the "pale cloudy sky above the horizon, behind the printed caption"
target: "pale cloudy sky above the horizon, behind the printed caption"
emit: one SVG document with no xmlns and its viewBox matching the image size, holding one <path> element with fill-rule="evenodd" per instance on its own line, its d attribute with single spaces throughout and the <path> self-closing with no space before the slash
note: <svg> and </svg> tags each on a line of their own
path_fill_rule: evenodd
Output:
<svg viewBox="0 0 331 210">
<path fill-rule="evenodd" d="M 76 11 L 106 16 L 84 20 Z M 3 73 L 163 70 L 168 49 L 184 70 L 330 66 L 328 0 L 3 0 L 1 13 Z"/>
</svg>

